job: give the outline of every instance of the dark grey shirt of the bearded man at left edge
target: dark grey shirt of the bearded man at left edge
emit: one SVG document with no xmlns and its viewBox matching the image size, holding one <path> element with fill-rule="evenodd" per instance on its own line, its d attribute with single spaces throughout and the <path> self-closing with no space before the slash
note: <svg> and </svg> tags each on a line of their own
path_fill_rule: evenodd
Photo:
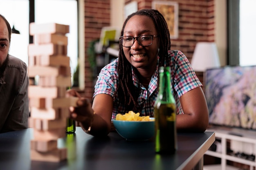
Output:
<svg viewBox="0 0 256 170">
<path fill-rule="evenodd" d="M 9 63 L 0 78 L 0 133 L 28 128 L 29 77 L 27 65 L 9 55 Z"/>
</svg>

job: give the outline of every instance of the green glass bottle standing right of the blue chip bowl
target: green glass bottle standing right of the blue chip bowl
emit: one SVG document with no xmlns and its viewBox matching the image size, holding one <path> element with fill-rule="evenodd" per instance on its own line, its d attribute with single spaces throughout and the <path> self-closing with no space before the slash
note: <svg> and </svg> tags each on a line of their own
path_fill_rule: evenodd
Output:
<svg viewBox="0 0 256 170">
<path fill-rule="evenodd" d="M 154 105 L 155 152 L 177 150 L 176 102 L 171 92 L 170 67 L 159 68 L 159 93 Z"/>
</svg>

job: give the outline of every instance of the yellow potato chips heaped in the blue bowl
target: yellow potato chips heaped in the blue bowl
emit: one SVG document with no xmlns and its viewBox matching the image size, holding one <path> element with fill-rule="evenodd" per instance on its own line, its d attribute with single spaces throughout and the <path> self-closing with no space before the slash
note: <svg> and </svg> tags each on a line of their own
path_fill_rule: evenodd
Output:
<svg viewBox="0 0 256 170">
<path fill-rule="evenodd" d="M 134 113 L 133 111 L 129 111 L 124 115 L 118 113 L 116 116 L 116 120 L 124 120 L 124 121 L 153 121 L 149 116 L 139 116 L 139 113 Z"/>
</svg>

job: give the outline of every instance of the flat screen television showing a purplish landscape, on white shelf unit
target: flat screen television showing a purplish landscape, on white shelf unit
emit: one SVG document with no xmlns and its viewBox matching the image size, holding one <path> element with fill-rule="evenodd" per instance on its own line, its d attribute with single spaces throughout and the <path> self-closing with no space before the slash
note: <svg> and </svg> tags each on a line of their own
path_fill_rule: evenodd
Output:
<svg viewBox="0 0 256 170">
<path fill-rule="evenodd" d="M 207 69 L 209 124 L 256 130 L 256 66 Z"/>
</svg>

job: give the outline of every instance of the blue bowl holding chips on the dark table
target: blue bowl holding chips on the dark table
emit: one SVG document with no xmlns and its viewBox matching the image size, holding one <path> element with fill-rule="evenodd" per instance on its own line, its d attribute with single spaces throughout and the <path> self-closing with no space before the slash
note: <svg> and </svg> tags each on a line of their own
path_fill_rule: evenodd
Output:
<svg viewBox="0 0 256 170">
<path fill-rule="evenodd" d="M 155 134 L 154 121 L 123 121 L 113 119 L 113 124 L 119 135 L 129 141 L 143 141 L 151 139 Z"/>
</svg>

